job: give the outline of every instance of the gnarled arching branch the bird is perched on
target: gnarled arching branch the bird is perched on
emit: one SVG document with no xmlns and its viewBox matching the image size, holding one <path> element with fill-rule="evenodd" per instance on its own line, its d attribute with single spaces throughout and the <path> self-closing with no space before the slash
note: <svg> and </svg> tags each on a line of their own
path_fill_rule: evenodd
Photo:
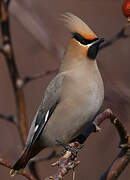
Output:
<svg viewBox="0 0 130 180">
<path fill-rule="evenodd" d="M 116 180 L 130 161 L 130 137 L 128 136 L 128 133 L 122 123 L 113 115 L 110 109 L 107 109 L 97 115 L 93 124 L 91 124 L 90 127 L 87 128 L 87 130 L 84 131 L 83 134 L 78 136 L 75 142 L 71 143 L 69 146 L 74 147 L 78 153 L 81 149 L 80 144 L 83 143 L 92 132 L 99 130 L 99 126 L 105 119 L 110 119 L 112 124 L 117 129 L 121 139 L 120 147 L 123 149 L 114 160 L 112 165 L 108 168 L 108 170 L 101 176 L 100 180 Z M 53 166 L 58 166 L 57 173 L 54 176 L 46 178 L 46 180 L 60 180 L 70 170 L 73 170 L 78 164 L 79 161 L 77 160 L 77 157 L 72 159 L 72 152 L 68 150 L 63 155 L 63 157 L 61 157 L 56 163 L 53 164 Z"/>
</svg>

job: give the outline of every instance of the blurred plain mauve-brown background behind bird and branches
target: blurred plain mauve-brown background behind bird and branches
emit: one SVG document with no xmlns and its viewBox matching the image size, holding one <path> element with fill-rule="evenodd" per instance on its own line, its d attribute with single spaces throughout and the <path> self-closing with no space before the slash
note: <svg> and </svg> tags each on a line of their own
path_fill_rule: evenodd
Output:
<svg viewBox="0 0 130 180">
<path fill-rule="evenodd" d="M 16 63 L 22 77 L 54 69 L 69 40 L 69 33 L 59 21 L 61 14 L 72 12 L 81 17 L 106 40 L 116 34 L 126 23 L 121 11 L 123 0 L 14 0 L 10 6 L 11 34 Z M 130 34 L 130 28 L 127 32 Z M 98 65 L 105 84 L 105 106 L 123 121 L 130 132 L 130 38 L 120 39 L 103 49 Z M 30 125 L 40 104 L 43 92 L 52 79 L 49 75 L 30 82 L 24 89 L 27 121 Z M 16 113 L 12 85 L 4 58 L 0 55 L 0 112 L 6 115 Z M 0 157 L 14 163 L 22 150 L 17 129 L 11 123 L 0 119 Z M 113 126 L 106 121 L 102 133 L 89 137 L 79 155 L 80 166 L 76 168 L 77 180 L 97 180 L 119 152 L 119 137 Z M 44 156 L 51 152 L 42 152 Z M 51 161 L 38 164 L 41 179 L 56 172 Z M 119 180 L 130 179 L 130 165 Z M 0 166 L 0 180 L 10 180 L 9 169 Z M 16 175 L 13 180 L 23 180 Z M 72 179 L 69 173 L 65 179 Z"/>
</svg>

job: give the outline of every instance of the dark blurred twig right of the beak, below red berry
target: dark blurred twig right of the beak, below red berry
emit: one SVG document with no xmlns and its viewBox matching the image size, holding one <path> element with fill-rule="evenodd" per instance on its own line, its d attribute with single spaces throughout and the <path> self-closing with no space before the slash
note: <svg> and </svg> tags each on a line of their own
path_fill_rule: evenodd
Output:
<svg viewBox="0 0 130 180">
<path fill-rule="evenodd" d="M 109 39 L 108 41 L 106 41 L 105 43 L 103 43 L 100 46 L 100 50 L 102 50 L 103 48 L 106 48 L 108 46 L 111 46 L 114 42 L 116 42 L 117 40 L 121 39 L 121 38 L 127 38 L 130 37 L 130 35 L 126 35 L 125 34 L 125 30 L 128 28 L 128 26 L 130 26 L 130 22 L 128 22 L 127 24 L 124 25 L 123 28 L 121 28 L 121 30 L 111 39 Z"/>
</svg>

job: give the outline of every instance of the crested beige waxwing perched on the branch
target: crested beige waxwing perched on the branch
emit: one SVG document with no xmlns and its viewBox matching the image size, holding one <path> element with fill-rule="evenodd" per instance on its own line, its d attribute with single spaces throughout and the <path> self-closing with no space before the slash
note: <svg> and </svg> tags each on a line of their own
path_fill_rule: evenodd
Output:
<svg viewBox="0 0 130 180">
<path fill-rule="evenodd" d="M 84 131 L 99 112 L 104 85 L 96 56 L 103 38 L 72 13 L 62 15 L 71 38 L 57 75 L 47 86 L 32 121 L 26 145 L 11 175 L 25 168 L 41 150 L 68 144 Z"/>
</svg>

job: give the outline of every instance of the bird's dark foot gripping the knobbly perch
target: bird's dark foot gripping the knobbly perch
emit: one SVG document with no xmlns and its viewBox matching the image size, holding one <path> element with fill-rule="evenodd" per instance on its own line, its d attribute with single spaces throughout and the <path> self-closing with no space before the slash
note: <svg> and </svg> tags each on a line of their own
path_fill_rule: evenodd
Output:
<svg viewBox="0 0 130 180">
<path fill-rule="evenodd" d="M 57 144 L 64 147 L 64 150 L 61 152 L 62 156 L 64 156 L 66 154 L 67 151 L 71 152 L 71 159 L 75 159 L 77 157 L 78 154 L 78 146 L 79 143 L 78 142 L 74 142 L 71 144 L 64 144 L 61 141 L 57 140 Z"/>
</svg>

